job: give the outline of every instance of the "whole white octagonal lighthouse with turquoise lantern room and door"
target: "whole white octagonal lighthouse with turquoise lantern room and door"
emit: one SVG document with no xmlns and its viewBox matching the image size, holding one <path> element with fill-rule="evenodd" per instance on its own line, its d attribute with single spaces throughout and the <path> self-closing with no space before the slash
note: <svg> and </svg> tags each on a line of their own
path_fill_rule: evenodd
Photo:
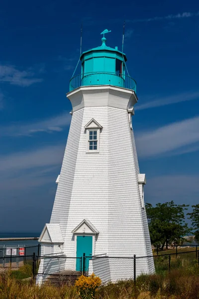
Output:
<svg viewBox="0 0 199 299">
<path fill-rule="evenodd" d="M 87 267 L 99 276 L 94 257 L 110 257 L 104 259 L 107 282 L 116 280 L 111 258 L 152 256 L 152 249 L 146 178 L 139 171 L 132 127 L 136 82 L 126 74 L 126 55 L 106 45 L 106 32 L 99 47 L 82 53 L 81 74 L 70 80 L 72 120 L 50 223 L 39 242 L 44 256 L 93 257 Z M 138 264 L 140 273 L 154 272 L 153 259 Z M 130 262 L 122 265 L 117 279 L 129 278 Z M 39 272 L 45 272 L 42 267 Z"/>
</svg>

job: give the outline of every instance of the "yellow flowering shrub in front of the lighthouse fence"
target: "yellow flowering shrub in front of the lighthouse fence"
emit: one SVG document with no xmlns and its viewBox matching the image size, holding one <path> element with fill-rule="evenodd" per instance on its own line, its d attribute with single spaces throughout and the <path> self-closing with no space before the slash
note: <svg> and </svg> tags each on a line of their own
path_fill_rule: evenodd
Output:
<svg viewBox="0 0 199 299">
<path fill-rule="evenodd" d="M 94 273 L 88 277 L 81 275 L 75 282 L 75 286 L 78 288 L 80 297 L 82 299 L 94 299 L 95 292 L 100 285 L 100 277 L 95 276 Z"/>
</svg>

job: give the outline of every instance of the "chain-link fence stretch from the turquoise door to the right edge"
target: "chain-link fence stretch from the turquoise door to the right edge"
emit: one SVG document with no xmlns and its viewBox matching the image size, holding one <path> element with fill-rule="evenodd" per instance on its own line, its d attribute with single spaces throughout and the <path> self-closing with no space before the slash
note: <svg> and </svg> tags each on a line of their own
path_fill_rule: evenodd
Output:
<svg viewBox="0 0 199 299">
<path fill-rule="evenodd" d="M 147 257 L 93 256 L 83 258 L 83 274 L 95 273 L 102 283 L 134 280 L 142 274 L 164 274 L 173 269 L 199 268 L 199 251 L 176 252 Z"/>
</svg>

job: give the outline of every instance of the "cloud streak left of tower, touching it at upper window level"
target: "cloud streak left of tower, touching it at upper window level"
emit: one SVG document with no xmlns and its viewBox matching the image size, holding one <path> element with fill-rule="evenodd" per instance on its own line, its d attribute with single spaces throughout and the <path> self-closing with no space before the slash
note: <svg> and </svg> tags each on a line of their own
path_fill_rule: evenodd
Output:
<svg viewBox="0 0 199 299">
<path fill-rule="evenodd" d="M 20 124 L 15 123 L 7 127 L 0 127 L 0 137 L 2 136 L 32 136 L 38 132 L 60 132 L 64 127 L 69 126 L 71 122 L 71 115 L 63 113 L 61 115 L 51 117 L 46 120 L 35 121 L 32 123 Z"/>
</svg>

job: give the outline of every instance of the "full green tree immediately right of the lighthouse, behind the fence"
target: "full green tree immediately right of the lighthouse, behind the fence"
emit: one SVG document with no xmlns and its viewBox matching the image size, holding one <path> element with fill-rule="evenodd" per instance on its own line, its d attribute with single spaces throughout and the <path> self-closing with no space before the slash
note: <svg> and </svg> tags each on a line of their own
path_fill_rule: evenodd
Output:
<svg viewBox="0 0 199 299">
<path fill-rule="evenodd" d="M 157 203 L 155 207 L 146 203 L 146 214 L 149 223 L 149 232 L 153 245 L 162 245 L 175 242 L 180 243 L 183 236 L 191 233 L 188 224 L 185 223 L 184 211 L 189 205 L 177 205 L 174 201 Z"/>
</svg>

